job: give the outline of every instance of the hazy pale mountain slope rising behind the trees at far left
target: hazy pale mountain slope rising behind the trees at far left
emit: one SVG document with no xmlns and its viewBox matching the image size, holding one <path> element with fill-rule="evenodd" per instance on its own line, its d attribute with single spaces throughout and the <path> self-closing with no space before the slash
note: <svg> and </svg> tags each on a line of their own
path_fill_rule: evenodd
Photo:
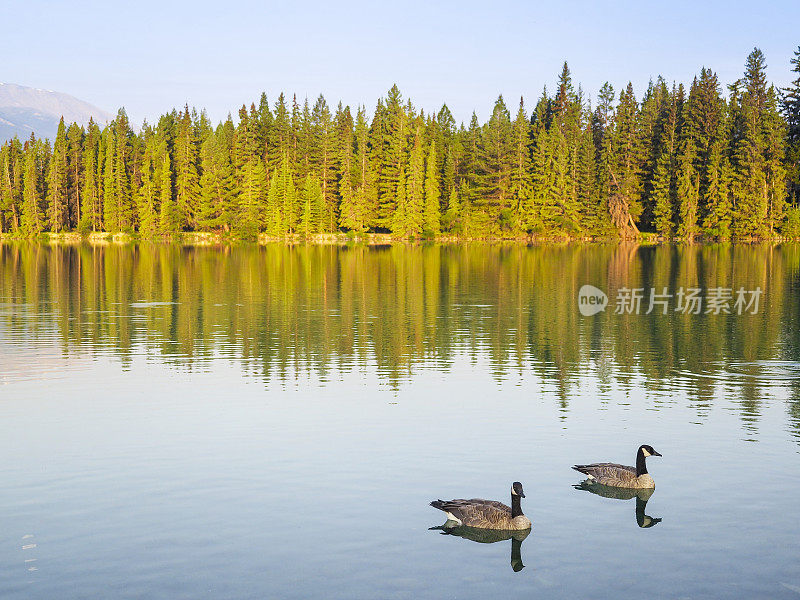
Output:
<svg viewBox="0 0 800 600">
<path fill-rule="evenodd" d="M 55 139 L 61 116 L 69 124 L 86 125 L 89 117 L 99 125 L 114 118 L 88 102 L 74 96 L 29 88 L 14 83 L 0 83 L 0 142 L 15 135 L 24 141 L 31 136 Z"/>
</svg>

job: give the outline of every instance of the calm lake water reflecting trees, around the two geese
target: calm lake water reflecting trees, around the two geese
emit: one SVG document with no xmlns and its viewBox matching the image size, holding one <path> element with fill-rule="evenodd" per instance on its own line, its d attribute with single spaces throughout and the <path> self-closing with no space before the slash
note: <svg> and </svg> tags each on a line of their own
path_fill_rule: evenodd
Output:
<svg viewBox="0 0 800 600">
<path fill-rule="evenodd" d="M 4 599 L 800 599 L 800 247 L 0 245 L 0 479 Z"/>
</svg>

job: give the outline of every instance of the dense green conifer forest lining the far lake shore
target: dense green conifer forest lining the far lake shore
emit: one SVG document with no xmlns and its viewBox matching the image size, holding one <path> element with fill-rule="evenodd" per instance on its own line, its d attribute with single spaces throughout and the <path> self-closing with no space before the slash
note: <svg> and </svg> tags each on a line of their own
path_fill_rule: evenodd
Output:
<svg viewBox="0 0 800 600">
<path fill-rule="evenodd" d="M 52 143 L 0 147 L 0 234 L 794 238 L 800 47 L 790 63 L 784 89 L 756 48 L 726 93 L 702 68 L 640 100 L 606 83 L 594 106 L 564 63 L 530 111 L 499 96 L 483 124 L 397 86 L 371 117 L 262 94 L 216 126 L 188 106 L 138 131 L 124 109 L 103 127 L 62 119 Z"/>
</svg>

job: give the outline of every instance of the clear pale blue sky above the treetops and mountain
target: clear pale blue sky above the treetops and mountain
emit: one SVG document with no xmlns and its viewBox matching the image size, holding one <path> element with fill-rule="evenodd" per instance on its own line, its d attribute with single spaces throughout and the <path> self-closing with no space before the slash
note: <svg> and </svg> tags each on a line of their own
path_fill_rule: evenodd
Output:
<svg viewBox="0 0 800 600">
<path fill-rule="evenodd" d="M 723 85 L 758 46 L 777 85 L 792 79 L 800 3 L 220 2 L 0 0 L 0 81 L 65 92 L 137 123 L 184 104 L 212 121 L 281 91 L 322 93 L 371 112 L 397 83 L 426 112 L 446 102 L 481 121 L 503 94 L 512 112 L 553 89 L 568 61 L 594 99 L 604 81 L 637 98 L 651 78 Z"/>
</svg>

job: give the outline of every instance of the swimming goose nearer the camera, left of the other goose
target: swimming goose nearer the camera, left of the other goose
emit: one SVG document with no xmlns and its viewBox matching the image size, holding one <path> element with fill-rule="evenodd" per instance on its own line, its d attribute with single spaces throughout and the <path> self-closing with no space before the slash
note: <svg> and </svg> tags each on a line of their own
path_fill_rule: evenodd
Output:
<svg viewBox="0 0 800 600">
<path fill-rule="evenodd" d="M 431 506 L 447 513 L 444 526 L 476 527 L 479 529 L 502 529 L 521 531 L 530 529 L 531 522 L 522 514 L 521 498 L 525 497 L 522 484 L 515 481 L 511 485 L 511 508 L 496 500 L 434 500 Z"/>
</svg>

